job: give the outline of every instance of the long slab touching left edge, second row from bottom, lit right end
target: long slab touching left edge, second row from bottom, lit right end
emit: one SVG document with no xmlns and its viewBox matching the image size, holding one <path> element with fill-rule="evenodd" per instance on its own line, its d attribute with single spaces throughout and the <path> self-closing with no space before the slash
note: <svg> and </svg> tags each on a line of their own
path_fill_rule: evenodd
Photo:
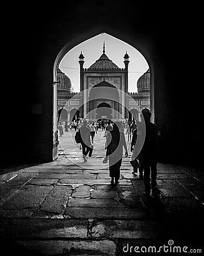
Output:
<svg viewBox="0 0 204 256">
<path fill-rule="evenodd" d="M 88 220 L 1 219 L 0 237 L 9 238 L 86 238 Z"/>
</svg>

